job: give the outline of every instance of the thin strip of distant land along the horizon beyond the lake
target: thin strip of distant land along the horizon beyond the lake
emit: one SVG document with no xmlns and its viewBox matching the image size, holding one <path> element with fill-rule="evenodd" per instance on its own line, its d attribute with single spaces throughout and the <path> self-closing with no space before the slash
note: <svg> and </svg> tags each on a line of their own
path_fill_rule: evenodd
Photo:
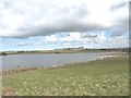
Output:
<svg viewBox="0 0 131 98">
<path fill-rule="evenodd" d="M 48 54 L 48 53 L 79 53 L 79 52 L 129 52 L 128 48 L 122 49 L 55 49 L 55 50 L 22 50 L 22 51 L 2 51 L 0 56 L 8 54 Z"/>
</svg>

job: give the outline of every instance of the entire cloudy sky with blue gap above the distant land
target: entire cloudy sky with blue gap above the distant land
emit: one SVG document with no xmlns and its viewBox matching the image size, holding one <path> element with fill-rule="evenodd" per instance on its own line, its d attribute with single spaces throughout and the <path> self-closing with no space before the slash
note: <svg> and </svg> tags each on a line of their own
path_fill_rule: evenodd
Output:
<svg viewBox="0 0 131 98">
<path fill-rule="evenodd" d="M 129 47 L 130 0 L 0 0 L 0 51 Z"/>
</svg>

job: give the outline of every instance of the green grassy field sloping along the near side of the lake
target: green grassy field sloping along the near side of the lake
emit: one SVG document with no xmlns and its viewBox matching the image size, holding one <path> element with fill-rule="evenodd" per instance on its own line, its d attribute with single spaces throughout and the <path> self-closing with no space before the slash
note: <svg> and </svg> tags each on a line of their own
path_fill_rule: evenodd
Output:
<svg viewBox="0 0 131 98">
<path fill-rule="evenodd" d="M 127 56 L 67 66 L 38 69 L 2 77 L 3 95 L 22 96 L 127 96 Z"/>
</svg>

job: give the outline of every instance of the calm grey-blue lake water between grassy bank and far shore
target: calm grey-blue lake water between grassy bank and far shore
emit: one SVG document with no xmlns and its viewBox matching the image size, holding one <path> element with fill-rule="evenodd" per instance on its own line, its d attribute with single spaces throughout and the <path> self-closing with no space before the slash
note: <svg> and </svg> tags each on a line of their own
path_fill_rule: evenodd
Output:
<svg viewBox="0 0 131 98">
<path fill-rule="evenodd" d="M 108 57 L 106 56 L 107 53 L 11 54 L 0 57 L 0 60 L 2 60 L 2 70 L 9 70 L 17 66 L 52 66 L 66 63 L 87 62 Z"/>
</svg>

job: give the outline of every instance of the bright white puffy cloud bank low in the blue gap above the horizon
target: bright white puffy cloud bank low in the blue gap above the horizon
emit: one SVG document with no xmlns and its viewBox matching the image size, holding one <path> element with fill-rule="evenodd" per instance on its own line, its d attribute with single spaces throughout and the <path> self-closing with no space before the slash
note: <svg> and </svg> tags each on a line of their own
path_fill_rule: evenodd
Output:
<svg viewBox="0 0 131 98">
<path fill-rule="evenodd" d="M 69 34 L 67 36 L 67 34 Z M 52 42 L 52 44 L 58 44 L 61 42 L 63 45 L 70 45 L 70 44 L 88 44 L 88 42 L 103 42 L 106 37 L 102 34 L 99 35 L 94 35 L 91 34 L 91 36 L 83 37 L 87 35 L 87 33 L 67 33 L 64 36 L 59 36 L 59 35 L 50 35 L 46 36 L 45 41 L 46 42 Z"/>
</svg>

